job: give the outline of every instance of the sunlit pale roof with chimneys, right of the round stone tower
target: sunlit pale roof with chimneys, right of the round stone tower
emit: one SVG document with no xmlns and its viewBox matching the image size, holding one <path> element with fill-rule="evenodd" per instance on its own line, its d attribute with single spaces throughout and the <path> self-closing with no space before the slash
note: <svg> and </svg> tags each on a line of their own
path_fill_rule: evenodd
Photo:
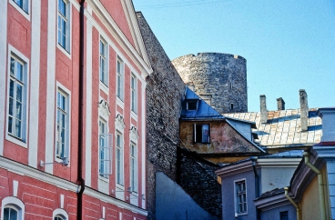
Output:
<svg viewBox="0 0 335 220">
<path fill-rule="evenodd" d="M 260 145 L 266 148 L 306 146 L 320 143 L 322 135 L 321 118 L 316 114 L 317 108 L 310 108 L 309 127 L 301 131 L 300 109 L 268 111 L 268 122 L 260 123 L 260 113 L 223 114 L 227 117 L 255 122 L 254 129 L 259 135 Z"/>
</svg>

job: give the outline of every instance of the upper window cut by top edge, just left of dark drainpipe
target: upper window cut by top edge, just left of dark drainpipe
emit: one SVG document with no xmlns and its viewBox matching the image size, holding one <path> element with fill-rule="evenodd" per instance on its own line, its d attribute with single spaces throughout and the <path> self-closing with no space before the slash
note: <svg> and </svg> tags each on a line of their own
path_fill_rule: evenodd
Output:
<svg viewBox="0 0 335 220">
<path fill-rule="evenodd" d="M 70 52 L 70 3 L 58 0 L 58 45 Z"/>
</svg>

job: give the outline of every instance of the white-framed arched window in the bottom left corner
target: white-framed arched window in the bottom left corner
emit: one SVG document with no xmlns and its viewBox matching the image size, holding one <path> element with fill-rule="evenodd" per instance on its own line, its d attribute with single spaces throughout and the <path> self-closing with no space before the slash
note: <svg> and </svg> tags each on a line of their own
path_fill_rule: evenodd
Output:
<svg viewBox="0 0 335 220">
<path fill-rule="evenodd" d="M 2 201 L 1 219 L 23 220 L 25 214 L 24 203 L 14 196 L 5 197 Z"/>
</svg>

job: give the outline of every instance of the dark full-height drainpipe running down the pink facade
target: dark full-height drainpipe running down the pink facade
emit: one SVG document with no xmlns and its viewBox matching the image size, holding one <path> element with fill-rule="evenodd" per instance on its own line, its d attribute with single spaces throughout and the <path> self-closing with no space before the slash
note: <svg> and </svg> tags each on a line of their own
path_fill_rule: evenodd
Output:
<svg viewBox="0 0 335 220">
<path fill-rule="evenodd" d="M 83 193 L 85 190 L 85 180 L 83 178 L 83 111 L 84 111 L 84 3 L 80 1 L 80 33 L 79 33 L 79 114 L 78 114 L 78 199 L 76 205 L 76 219 L 82 220 L 83 215 Z M 79 186 L 80 185 L 80 186 Z"/>
</svg>

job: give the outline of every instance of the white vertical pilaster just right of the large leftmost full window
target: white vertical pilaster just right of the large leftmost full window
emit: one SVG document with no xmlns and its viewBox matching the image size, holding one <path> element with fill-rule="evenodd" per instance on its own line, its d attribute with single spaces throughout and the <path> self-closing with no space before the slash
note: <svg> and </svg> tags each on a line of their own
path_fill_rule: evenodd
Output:
<svg viewBox="0 0 335 220">
<path fill-rule="evenodd" d="M 32 56 L 30 72 L 30 111 L 29 111 L 29 148 L 28 165 L 37 167 L 38 118 L 39 118 L 39 75 L 40 75 L 40 33 L 41 0 L 32 0 Z"/>
</svg>

